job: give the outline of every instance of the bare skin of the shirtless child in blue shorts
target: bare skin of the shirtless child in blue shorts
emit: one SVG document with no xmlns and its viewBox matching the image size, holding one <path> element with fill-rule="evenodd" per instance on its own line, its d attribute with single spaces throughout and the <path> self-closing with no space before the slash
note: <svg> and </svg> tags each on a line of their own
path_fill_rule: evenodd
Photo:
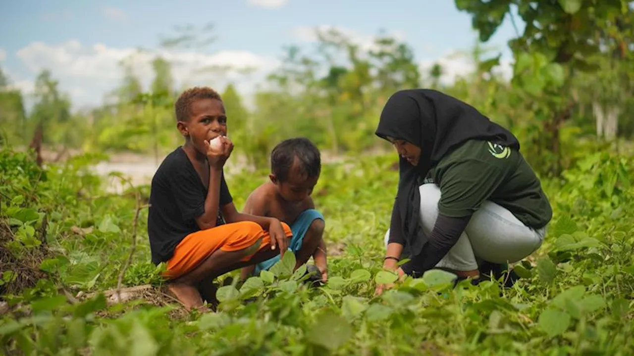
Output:
<svg viewBox="0 0 634 356">
<path fill-rule="evenodd" d="M 288 177 L 281 182 L 275 174 L 269 175 L 270 182 L 266 182 L 254 190 L 243 211 L 245 213 L 276 219 L 287 223 L 289 226 L 297 219 L 300 213 L 307 209 L 314 209 L 313 188 L 319 177 L 307 177 L 301 174 L 297 168 L 297 158 L 288 172 Z M 297 263 L 295 269 L 305 264 L 313 256 L 316 267 L 321 272 L 321 279 L 328 279 L 326 244 L 323 241 L 323 220 L 316 219 L 306 232 L 302 241 L 302 247 L 295 256 Z M 242 269 L 242 278 L 250 276 L 255 265 Z"/>
</svg>

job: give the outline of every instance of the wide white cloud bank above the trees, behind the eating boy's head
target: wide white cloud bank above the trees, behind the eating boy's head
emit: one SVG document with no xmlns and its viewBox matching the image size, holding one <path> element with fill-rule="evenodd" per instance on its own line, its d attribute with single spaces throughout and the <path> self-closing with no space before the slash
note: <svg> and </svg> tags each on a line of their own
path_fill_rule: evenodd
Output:
<svg viewBox="0 0 634 356">
<path fill-rule="evenodd" d="M 235 82 L 243 94 L 254 92 L 255 83 L 278 66 L 278 60 L 248 51 L 225 50 L 214 54 L 195 51 L 139 51 L 134 48 L 112 48 L 103 44 L 84 46 L 77 40 L 51 45 L 32 42 L 17 52 L 34 79 L 41 70 L 49 69 L 60 82 L 60 89 L 70 94 L 75 106 L 99 105 L 104 95 L 119 86 L 123 70 L 119 63 L 130 61 L 134 72 L 147 88 L 153 79 L 152 60 L 160 54 L 172 63 L 175 84 L 207 85 L 223 90 Z M 209 70 L 212 68 L 212 70 Z M 242 71 L 250 70 L 249 73 Z M 15 84 L 18 86 L 18 83 Z M 32 84 L 21 82 L 25 92 Z"/>
</svg>

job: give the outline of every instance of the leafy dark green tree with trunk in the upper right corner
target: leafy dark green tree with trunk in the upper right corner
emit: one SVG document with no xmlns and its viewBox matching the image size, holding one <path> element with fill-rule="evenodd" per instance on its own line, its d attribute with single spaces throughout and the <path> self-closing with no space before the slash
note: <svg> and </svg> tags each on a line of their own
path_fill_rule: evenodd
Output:
<svg viewBox="0 0 634 356">
<path fill-rule="evenodd" d="M 472 15 L 472 24 L 482 42 L 488 41 L 510 16 L 512 5 L 526 24 L 522 34 L 508 44 L 516 62 L 514 82 L 527 96 L 549 111 L 543 120 L 547 149 L 555 157 L 548 168 L 561 170 L 560 129 L 573 107 L 571 79 L 578 70 L 593 70 L 588 56 L 602 49 L 597 30 L 629 9 L 630 1 L 612 0 L 455 0 L 459 10 Z M 515 22 L 514 22 L 515 23 Z"/>
</svg>

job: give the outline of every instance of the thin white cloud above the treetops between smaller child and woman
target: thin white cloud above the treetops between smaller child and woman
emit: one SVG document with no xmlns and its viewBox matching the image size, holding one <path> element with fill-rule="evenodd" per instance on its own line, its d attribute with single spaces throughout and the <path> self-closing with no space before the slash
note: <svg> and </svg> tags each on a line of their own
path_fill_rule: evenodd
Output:
<svg viewBox="0 0 634 356">
<path fill-rule="evenodd" d="M 333 25 L 318 25 L 314 27 L 296 27 L 293 30 L 293 36 L 302 42 L 318 42 L 317 32 L 328 34 L 328 32 L 339 32 L 340 35 L 348 39 L 353 44 L 359 46 L 361 51 L 368 51 L 375 48 L 374 40 L 377 34 L 362 34 L 356 30 L 347 27 L 339 27 Z M 401 31 L 387 32 L 386 35 L 394 37 L 397 41 L 403 41 L 405 35 Z"/>
</svg>

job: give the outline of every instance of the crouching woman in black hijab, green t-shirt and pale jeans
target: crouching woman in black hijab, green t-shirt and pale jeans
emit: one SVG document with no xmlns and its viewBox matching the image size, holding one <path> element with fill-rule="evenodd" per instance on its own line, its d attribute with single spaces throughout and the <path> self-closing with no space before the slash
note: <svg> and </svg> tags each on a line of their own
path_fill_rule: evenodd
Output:
<svg viewBox="0 0 634 356">
<path fill-rule="evenodd" d="M 410 89 L 388 99 L 375 133 L 399 153 L 385 269 L 410 258 L 399 276 L 441 268 L 477 278 L 477 262 L 540 248 L 552 208 L 508 130 L 442 92 Z"/>
</svg>

